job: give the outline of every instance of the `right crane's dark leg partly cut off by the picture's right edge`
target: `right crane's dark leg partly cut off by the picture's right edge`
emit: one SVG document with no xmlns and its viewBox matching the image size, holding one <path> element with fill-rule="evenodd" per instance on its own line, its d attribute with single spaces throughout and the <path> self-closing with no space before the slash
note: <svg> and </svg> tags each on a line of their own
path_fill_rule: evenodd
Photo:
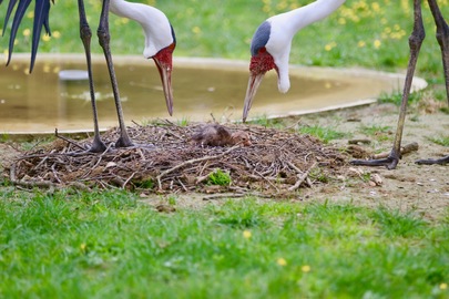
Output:
<svg viewBox="0 0 449 299">
<path fill-rule="evenodd" d="M 437 40 L 440 44 L 442 56 L 442 69 L 445 71 L 446 95 L 449 105 L 449 27 L 442 18 L 441 11 L 436 0 L 428 0 L 430 10 L 432 12 L 435 24 L 437 27 Z M 442 158 L 427 158 L 418 159 L 417 164 L 447 164 L 449 163 L 449 155 Z"/>
</svg>

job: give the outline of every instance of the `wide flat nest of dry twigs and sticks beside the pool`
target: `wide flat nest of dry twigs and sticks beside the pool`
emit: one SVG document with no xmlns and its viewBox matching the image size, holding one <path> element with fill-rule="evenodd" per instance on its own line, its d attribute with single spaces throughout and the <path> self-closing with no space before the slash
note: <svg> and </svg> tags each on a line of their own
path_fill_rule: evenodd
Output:
<svg viewBox="0 0 449 299">
<path fill-rule="evenodd" d="M 10 179 L 27 187 L 81 189 L 120 187 L 146 193 L 220 193 L 276 196 L 322 184 L 339 173 L 345 156 L 309 135 L 254 125 L 228 125 L 251 134 L 252 146 L 201 147 L 190 142 L 200 124 L 167 121 L 129 128 L 136 144 L 153 147 L 115 150 L 118 131 L 103 134 L 110 151 L 86 153 L 91 140 L 50 145 L 24 153 L 10 167 Z M 211 185 L 216 169 L 229 174 L 228 186 Z"/>
</svg>

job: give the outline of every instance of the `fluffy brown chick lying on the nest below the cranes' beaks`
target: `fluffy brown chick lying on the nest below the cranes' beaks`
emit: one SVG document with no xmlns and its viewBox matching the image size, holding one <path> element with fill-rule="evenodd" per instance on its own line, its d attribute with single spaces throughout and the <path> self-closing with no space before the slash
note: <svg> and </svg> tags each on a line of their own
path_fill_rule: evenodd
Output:
<svg viewBox="0 0 449 299">
<path fill-rule="evenodd" d="M 220 124 L 203 126 L 193 134 L 192 141 L 201 146 L 252 145 L 248 133 L 243 131 L 231 132 L 227 127 Z"/>
</svg>

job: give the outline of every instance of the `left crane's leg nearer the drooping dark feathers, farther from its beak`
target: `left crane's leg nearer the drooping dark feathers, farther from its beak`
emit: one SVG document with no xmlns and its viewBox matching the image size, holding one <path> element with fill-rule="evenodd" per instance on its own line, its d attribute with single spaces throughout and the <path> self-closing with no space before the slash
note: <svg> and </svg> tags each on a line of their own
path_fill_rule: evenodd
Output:
<svg viewBox="0 0 449 299">
<path fill-rule="evenodd" d="M 92 63 L 91 63 L 91 38 L 92 32 L 89 28 L 88 20 L 85 18 L 85 10 L 84 10 L 84 1 L 78 0 L 78 8 L 80 13 L 80 37 L 84 45 L 85 52 L 85 60 L 88 64 L 88 73 L 89 73 L 89 89 L 91 92 L 91 103 L 92 103 L 92 112 L 93 112 L 93 143 L 90 152 L 93 153 L 101 153 L 106 151 L 106 145 L 101 141 L 100 137 L 100 130 L 99 130 L 99 117 L 96 113 L 96 102 L 95 102 L 95 92 L 93 87 L 93 76 L 92 76 Z"/>
</svg>

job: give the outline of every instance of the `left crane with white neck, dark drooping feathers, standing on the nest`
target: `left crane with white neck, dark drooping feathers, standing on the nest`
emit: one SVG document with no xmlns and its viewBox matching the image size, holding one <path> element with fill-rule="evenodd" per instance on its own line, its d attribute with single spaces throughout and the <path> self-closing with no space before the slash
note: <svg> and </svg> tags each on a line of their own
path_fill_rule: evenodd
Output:
<svg viewBox="0 0 449 299">
<path fill-rule="evenodd" d="M 2 4 L 3 0 L 0 0 L 0 6 Z M 8 54 L 8 62 L 11 61 L 11 55 L 13 52 L 14 47 L 14 39 L 19 29 L 19 25 L 23 19 L 23 16 L 29 8 L 31 0 L 9 0 L 7 14 L 4 19 L 4 28 L 3 34 L 6 32 L 6 28 L 14 7 L 17 6 L 16 13 L 13 16 L 12 25 L 11 25 L 11 34 L 9 39 L 9 54 Z M 34 66 L 34 61 L 39 48 L 39 40 L 42 32 L 42 28 L 44 28 L 48 34 L 51 34 L 50 25 L 49 25 L 49 16 L 50 16 L 50 0 L 35 0 L 34 1 L 34 19 L 33 19 L 33 30 L 32 30 L 32 42 L 31 42 L 31 63 L 30 63 L 30 73 Z M 84 9 L 84 1 L 78 0 L 79 7 L 79 21 L 80 21 L 80 37 L 84 45 L 85 51 L 85 59 L 88 64 L 88 73 L 89 73 L 89 86 L 91 93 L 91 103 L 92 103 L 92 112 L 93 112 L 93 123 L 94 123 L 94 138 L 91 147 L 89 148 L 90 152 L 104 152 L 108 147 L 103 143 L 100 136 L 99 131 L 99 120 L 96 113 L 96 103 L 95 103 L 95 93 L 93 86 L 93 76 L 92 76 L 92 66 L 91 66 L 91 38 L 92 32 L 89 27 L 86 17 L 85 17 L 85 9 Z M 106 60 L 109 74 L 111 79 L 112 91 L 114 94 L 114 102 L 115 109 L 119 117 L 119 125 L 120 125 L 120 137 L 115 142 L 115 147 L 129 147 L 133 146 L 133 142 L 131 141 L 126 126 L 123 118 L 123 111 L 120 101 L 120 93 L 119 86 L 115 78 L 114 65 L 111 55 L 110 49 L 110 31 L 109 31 L 109 11 L 118 14 L 120 17 L 125 17 L 139 22 L 144 31 L 145 35 L 145 43 L 144 43 L 144 51 L 143 55 L 145 59 L 153 59 L 157 70 L 161 75 L 163 91 L 165 95 L 165 102 L 169 110 L 170 115 L 173 113 L 173 92 L 172 92 L 172 58 L 173 51 L 176 45 L 176 38 L 166 16 L 150 6 L 141 4 L 141 3 L 133 3 L 127 2 L 124 0 L 103 0 L 102 1 L 102 10 L 100 14 L 100 24 L 98 28 L 98 38 L 101 48 L 103 49 L 104 56 Z M 68 20 L 71 21 L 71 20 Z"/>
</svg>

